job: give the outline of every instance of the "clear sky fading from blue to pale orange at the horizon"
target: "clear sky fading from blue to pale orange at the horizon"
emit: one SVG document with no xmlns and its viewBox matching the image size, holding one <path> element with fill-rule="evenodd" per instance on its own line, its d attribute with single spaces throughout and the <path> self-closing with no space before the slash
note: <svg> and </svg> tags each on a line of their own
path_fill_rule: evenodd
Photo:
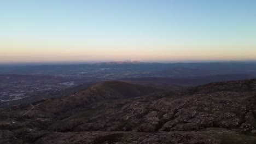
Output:
<svg viewBox="0 0 256 144">
<path fill-rule="evenodd" d="M 254 0 L 0 0 L 0 63 L 256 60 Z"/>
</svg>

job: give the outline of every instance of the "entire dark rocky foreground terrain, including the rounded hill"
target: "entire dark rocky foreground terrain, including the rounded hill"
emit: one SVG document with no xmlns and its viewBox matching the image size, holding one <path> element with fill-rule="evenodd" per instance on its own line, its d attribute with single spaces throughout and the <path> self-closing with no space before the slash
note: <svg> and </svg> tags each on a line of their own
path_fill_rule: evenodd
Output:
<svg viewBox="0 0 256 144">
<path fill-rule="evenodd" d="M 256 79 L 190 89 L 121 81 L 0 110 L 0 143 L 256 143 Z"/>
</svg>

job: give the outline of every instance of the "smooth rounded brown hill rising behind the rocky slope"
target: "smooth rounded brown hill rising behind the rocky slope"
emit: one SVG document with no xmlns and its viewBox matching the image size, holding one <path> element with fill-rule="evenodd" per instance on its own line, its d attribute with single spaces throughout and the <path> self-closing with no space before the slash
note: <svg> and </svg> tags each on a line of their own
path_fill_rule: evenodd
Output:
<svg viewBox="0 0 256 144">
<path fill-rule="evenodd" d="M 162 89 L 129 82 L 105 81 L 66 98 L 46 100 L 35 106 L 33 111 L 27 113 L 27 115 L 37 115 L 42 111 L 46 113 L 61 113 L 100 100 L 141 97 L 159 91 L 162 91 Z"/>
</svg>

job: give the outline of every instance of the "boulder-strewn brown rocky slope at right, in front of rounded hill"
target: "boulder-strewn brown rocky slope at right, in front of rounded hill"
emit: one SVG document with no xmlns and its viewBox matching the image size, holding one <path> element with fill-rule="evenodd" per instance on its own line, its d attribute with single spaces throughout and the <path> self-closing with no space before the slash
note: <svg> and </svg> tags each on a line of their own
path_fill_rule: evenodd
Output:
<svg viewBox="0 0 256 144">
<path fill-rule="evenodd" d="M 200 86 L 198 94 L 155 93 L 136 99 L 98 101 L 50 128 L 54 131 L 146 132 L 212 127 L 254 130 L 254 88 L 252 79 L 210 83 Z M 164 96 L 156 97 L 159 94 Z"/>
</svg>

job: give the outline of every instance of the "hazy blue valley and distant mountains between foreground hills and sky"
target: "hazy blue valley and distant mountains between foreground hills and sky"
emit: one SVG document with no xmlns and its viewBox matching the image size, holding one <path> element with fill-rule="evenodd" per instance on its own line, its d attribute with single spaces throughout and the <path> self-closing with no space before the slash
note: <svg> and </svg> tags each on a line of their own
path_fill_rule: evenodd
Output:
<svg viewBox="0 0 256 144">
<path fill-rule="evenodd" d="M 181 89 L 209 82 L 254 77 L 256 63 L 253 62 L 3 65 L 0 67 L 0 106 L 59 98 L 106 80 Z"/>
</svg>

